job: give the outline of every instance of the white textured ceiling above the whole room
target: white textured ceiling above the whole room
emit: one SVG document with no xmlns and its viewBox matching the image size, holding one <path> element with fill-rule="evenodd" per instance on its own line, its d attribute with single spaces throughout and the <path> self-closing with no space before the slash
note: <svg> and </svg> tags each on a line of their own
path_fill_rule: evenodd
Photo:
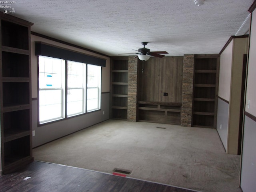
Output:
<svg viewBox="0 0 256 192">
<path fill-rule="evenodd" d="M 143 41 L 151 51 L 182 56 L 219 53 L 230 36 L 246 34 L 253 1 L 17 0 L 12 7 L 34 23 L 33 32 L 109 56 L 134 52 Z"/>
</svg>

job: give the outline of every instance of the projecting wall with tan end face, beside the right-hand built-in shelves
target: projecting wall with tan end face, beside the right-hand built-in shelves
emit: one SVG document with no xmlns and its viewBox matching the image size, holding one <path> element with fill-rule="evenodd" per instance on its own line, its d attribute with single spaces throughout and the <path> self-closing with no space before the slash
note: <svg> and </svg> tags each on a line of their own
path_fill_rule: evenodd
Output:
<svg viewBox="0 0 256 192">
<path fill-rule="evenodd" d="M 233 37 L 220 55 L 217 131 L 226 152 L 238 154 L 244 54 L 248 38 Z M 239 152 L 240 154 L 240 152 Z"/>
</svg>

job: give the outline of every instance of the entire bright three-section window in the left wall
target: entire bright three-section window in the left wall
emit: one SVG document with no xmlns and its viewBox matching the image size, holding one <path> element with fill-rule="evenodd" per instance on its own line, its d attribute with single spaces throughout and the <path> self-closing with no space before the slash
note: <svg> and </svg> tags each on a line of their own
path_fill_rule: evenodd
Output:
<svg viewBox="0 0 256 192">
<path fill-rule="evenodd" d="M 46 56 L 38 61 L 40 124 L 100 109 L 100 66 Z"/>
</svg>

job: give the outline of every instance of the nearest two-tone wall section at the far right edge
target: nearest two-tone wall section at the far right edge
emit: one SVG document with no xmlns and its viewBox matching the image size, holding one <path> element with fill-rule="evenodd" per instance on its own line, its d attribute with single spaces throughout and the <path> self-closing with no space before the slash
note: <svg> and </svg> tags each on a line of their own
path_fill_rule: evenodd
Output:
<svg viewBox="0 0 256 192">
<path fill-rule="evenodd" d="M 248 76 L 246 88 L 246 114 L 242 149 L 241 188 L 244 192 L 256 190 L 256 10 L 252 13 Z M 250 107 L 248 101 L 250 100 Z M 252 117 L 249 116 L 254 116 Z"/>
</svg>

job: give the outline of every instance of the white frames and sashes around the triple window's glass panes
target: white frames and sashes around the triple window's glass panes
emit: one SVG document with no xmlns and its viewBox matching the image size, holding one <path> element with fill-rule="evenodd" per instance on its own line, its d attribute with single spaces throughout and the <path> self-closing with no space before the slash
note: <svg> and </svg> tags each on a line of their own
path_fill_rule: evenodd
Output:
<svg viewBox="0 0 256 192">
<path fill-rule="evenodd" d="M 68 60 L 65 60 L 65 67 L 64 67 L 64 70 L 65 70 L 65 84 L 64 84 L 64 88 L 63 89 L 61 89 L 62 91 L 64 91 L 64 94 L 62 94 L 63 96 L 62 96 L 62 100 L 64 100 L 64 104 L 62 104 L 62 108 L 64 108 L 64 110 L 62 110 L 62 112 L 64 113 L 64 115 L 63 115 L 63 118 L 56 118 L 56 119 L 52 119 L 52 120 L 49 120 L 49 121 L 45 121 L 45 122 L 41 122 L 40 123 L 40 121 L 39 121 L 39 116 L 40 116 L 40 110 L 39 110 L 39 102 L 40 102 L 40 98 L 39 98 L 39 91 L 40 90 L 49 90 L 49 89 L 45 89 L 45 88 L 39 88 L 39 56 L 42 56 L 42 55 L 37 55 L 37 72 L 38 72 L 38 80 L 37 80 L 37 88 L 38 88 L 38 99 L 37 99 L 37 107 L 38 107 L 38 120 L 37 120 L 37 122 L 38 122 L 38 127 L 39 126 L 44 126 L 44 125 L 48 125 L 48 124 L 52 124 L 52 123 L 55 123 L 55 122 L 60 122 L 60 121 L 62 121 L 62 120 L 68 120 L 68 119 L 70 119 L 70 118 L 74 118 L 74 117 L 78 117 L 78 116 L 82 116 L 82 115 L 86 115 L 86 114 L 89 114 L 89 113 L 92 113 L 92 112 L 98 112 L 98 111 L 100 111 L 101 110 L 101 107 L 102 107 L 102 96 L 101 96 L 101 90 L 102 90 L 102 66 L 99 66 L 100 67 L 100 86 L 98 86 L 98 87 L 95 87 L 95 88 L 98 88 L 98 89 L 100 89 L 99 91 L 98 91 L 98 102 L 99 102 L 99 104 L 98 104 L 98 109 L 95 109 L 95 110 L 90 110 L 90 111 L 87 111 L 87 89 L 88 89 L 88 87 L 87 87 L 87 78 L 88 78 L 88 74 L 87 74 L 87 66 L 88 66 L 88 64 L 86 64 L 86 63 L 84 63 L 84 64 L 86 64 L 86 86 L 83 88 L 84 89 L 84 94 L 86 94 L 85 95 L 85 99 L 84 99 L 84 101 L 83 101 L 83 105 L 85 105 L 85 112 L 82 112 L 82 113 L 78 113 L 78 114 L 72 114 L 72 115 L 70 115 L 70 116 L 68 116 L 67 115 L 67 96 L 68 96 L 68 92 L 67 92 L 67 90 L 68 90 Z M 50 56 L 46 56 L 46 57 L 50 57 Z M 50 57 L 51 58 L 51 57 Z M 53 57 L 52 57 L 53 58 Z M 72 88 L 73 89 L 73 88 Z"/>
</svg>

